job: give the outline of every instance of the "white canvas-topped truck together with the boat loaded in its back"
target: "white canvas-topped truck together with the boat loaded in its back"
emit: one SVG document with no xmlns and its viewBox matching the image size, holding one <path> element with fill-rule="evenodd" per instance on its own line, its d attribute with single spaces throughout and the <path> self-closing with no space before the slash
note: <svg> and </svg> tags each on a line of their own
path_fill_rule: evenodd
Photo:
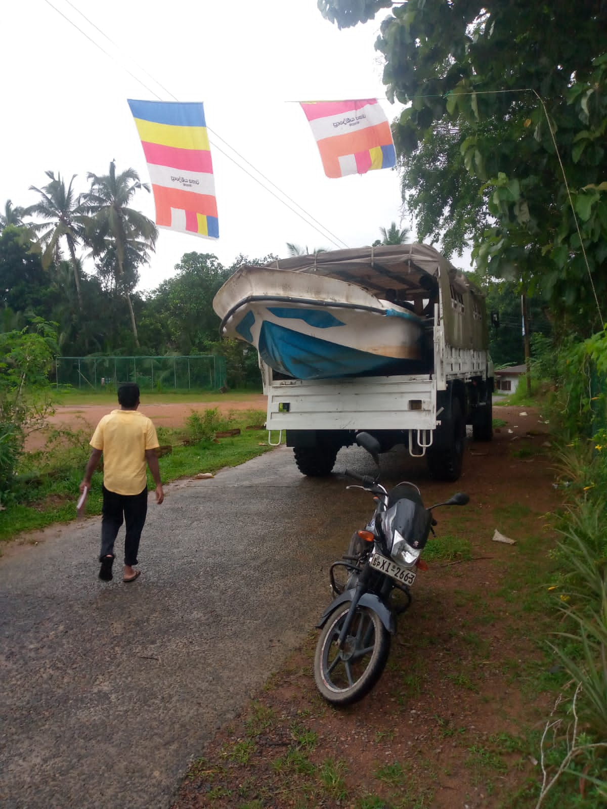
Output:
<svg viewBox="0 0 607 809">
<path fill-rule="evenodd" d="M 492 437 L 485 299 L 435 248 L 243 265 L 213 305 L 223 334 L 257 349 L 266 426 L 286 433 L 305 475 L 329 474 L 363 430 L 382 451 L 404 443 L 434 477 L 455 481 L 466 424 Z"/>
</svg>

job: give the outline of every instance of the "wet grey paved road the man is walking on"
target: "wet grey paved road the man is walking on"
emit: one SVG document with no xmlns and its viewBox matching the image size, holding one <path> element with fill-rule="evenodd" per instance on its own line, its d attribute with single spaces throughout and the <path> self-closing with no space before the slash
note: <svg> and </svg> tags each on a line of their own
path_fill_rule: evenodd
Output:
<svg viewBox="0 0 607 809">
<path fill-rule="evenodd" d="M 338 464 L 371 471 L 367 458 Z M 98 518 L 9 549 L 2 807 L 168 807 L 189 758 L 328 603 L 329 563 L 370 508 L 344 485 L 302 477 L 285 448 L 172 485 L 133 585 L 96 578 Z"/>
</svg>

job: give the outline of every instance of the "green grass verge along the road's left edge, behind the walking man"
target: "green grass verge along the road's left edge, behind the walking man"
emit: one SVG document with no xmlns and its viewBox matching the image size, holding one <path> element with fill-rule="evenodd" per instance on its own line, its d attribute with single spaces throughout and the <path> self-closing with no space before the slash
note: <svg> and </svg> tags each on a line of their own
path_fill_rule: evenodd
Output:
<svg viewBox="0 0 607 809">
<path fill-rule="evenodd" d="M 244 418 L 244 421 L 238 421 Z M 252 421 L 253 419 L 253 421 Z M 265 415 L 261 411 L 236 411 L 236 418 L 231 426 L 244 428 L 261 419 Z M 181 431 L 159 430 L 161 443 L 165 443 L 171 434 Z M 168 442 L 167 442 L 168 443 Z M 260 446 L 263 443 L 263 446 Z M 265 430 L 242 430 L 240 435 L 221 438 L 219 443 L 198 443 L 191 447 L 173 447 L 171 455 L 160 458 L 160 475 L 163 484 L 175 481 L 180 477 L 193 477 L 198 472 L 217 472 L 224 467 L 238 466 L 245 461 L 270 451 Z M 84 463 L 79 460 L 49 480 L 30 481 L 21 485 L 7 498 L 0 511 L 0 540 L 11 540 L 20 532 L 35 531 L 53 523 L 69 523 L 76 517 L 76 501 L 79 497 L 79 484 L 83 479 Z M 101 513 L 102 473 L 93 476 L 91 493 L 87 501 L 87 515 Z M 210 485 L 213 485 L 210 482 Z M 153 489 L 154 482 L 148 472 L 148 486 Z M 170 495 L 169 495 L 170 496 Z"/>
</svg>

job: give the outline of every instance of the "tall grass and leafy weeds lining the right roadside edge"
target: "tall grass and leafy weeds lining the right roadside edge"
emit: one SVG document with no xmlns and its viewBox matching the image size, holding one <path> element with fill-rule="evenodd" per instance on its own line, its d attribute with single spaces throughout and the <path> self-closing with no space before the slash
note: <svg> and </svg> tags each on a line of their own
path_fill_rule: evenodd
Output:
<svg viewBox="0 0 607 809">
<path fill-rule="evenodd" d="M 567 672 L 541 740 L 542 762 L 550 762 L 541 798 L 552 805 L 552 792 L 568 786 L 573 794 L 586 779 L 598 806 L 607 799 L 607 331 L 565 341 L 556 355 L 540 352 L 537 370 L 550 371 L 546 412 L 558 430 L 564 507 L 554 515 L 550 592 L 559 629 L 550 644 Z"/>
</svg>

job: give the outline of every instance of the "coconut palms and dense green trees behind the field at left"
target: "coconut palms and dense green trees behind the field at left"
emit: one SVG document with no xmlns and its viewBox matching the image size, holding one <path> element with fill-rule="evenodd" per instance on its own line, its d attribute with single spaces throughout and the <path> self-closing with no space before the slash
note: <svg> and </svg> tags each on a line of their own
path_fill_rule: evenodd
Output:
<svg viewBox="0 0 607 809">
<path fill-rule="evenodd" d="M 157 230 L 132 207 L 135 193 L 148 190 L 137 172 L 117 172 L 112 161 L 107 175 L 87 175 L 90 188 L 81 195 L 75 175 L 66 184 L 61 174 L 46 173 L 49 183 L 31 186 L 39 202 L 20 209 L 7 201 L 0 217 L 2 339 L 35 317 L 56 324 L 55 350 L 62 356 L 213 353 L 227 359 L 231 387 L 259 384 L 257 352 L 219 336 L 213 298 L 240 265 L 276 256 L 240 255 L 225 267 L 214 255 L 186 253 L 174 277 L 139 293 L 139 270 Z M 79 248 L 90 251 L 93 272 L 83 272 Z M 5 449 L 7 440 L 0 438 Z"/>
</svg>

